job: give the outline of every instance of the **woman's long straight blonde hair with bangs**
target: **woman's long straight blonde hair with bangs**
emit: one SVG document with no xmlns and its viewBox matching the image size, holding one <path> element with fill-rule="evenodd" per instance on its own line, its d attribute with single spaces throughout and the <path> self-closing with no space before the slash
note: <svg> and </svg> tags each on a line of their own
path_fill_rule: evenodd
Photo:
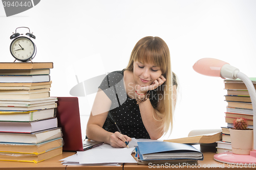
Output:
<svg viewBox="0 0 256 170">
<path fill-rule="evenodd" d="M 162 122 L 164 134 L 170 129 L 173 130 L 173 72 L 170 66 L 170 52 L 167 44 L 159 37 L 144 37 L 140 39 L 133 48 L 130 61 L 126 67 L 127 70 L 133 71 L 135 61 L 143 63 L 154 63 L 159 66 L 162 75 L 165 77 L 164 88 L 157 90 L 157 93 L 163 96 L 163 100 L 159 100 L 155 108 L 157 118 Z M 159 95 L 158 95 L 159 96 Z"/>
</svg>

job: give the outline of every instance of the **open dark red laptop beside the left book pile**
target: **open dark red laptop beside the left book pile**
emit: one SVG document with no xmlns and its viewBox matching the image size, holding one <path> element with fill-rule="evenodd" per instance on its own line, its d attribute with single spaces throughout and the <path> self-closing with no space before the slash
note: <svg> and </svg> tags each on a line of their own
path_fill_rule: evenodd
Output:
<svg viewBox="0 0 256 170">
<path fill-rule="evenodd" d="M 78 98 L 57 97 L 58 127 L 63 133 L 63 151 L 85 151 L 102 144 L 97 141 L 82 141 Z"/>
</svg>

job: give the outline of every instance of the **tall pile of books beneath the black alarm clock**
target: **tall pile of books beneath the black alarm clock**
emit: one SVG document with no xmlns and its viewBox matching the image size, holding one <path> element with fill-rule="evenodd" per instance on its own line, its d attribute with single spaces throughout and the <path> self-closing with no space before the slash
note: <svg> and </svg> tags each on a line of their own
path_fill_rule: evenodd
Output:
<svg viewBox="0 0 256 170">
<path fill-rule="evenodd" d="M 53 63 L 0 63 L 0 160 L 40 162 L 62 153 Z"/>
</svg>

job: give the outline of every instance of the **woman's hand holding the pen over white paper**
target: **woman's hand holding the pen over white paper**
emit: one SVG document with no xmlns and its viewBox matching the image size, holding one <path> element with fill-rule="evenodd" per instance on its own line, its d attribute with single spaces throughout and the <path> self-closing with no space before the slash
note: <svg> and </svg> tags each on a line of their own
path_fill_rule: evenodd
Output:
<svg viewBox="0 0 256 170">
<path fill-rule="evenodd" d="M 125 142 L 127 143 L 130 141 L 132 141 L 131 137 L 123 135 L 119 132 L 115 132 L 110 136 L 110 145 L 114 148 L 125 148 Z"/>
</svg>

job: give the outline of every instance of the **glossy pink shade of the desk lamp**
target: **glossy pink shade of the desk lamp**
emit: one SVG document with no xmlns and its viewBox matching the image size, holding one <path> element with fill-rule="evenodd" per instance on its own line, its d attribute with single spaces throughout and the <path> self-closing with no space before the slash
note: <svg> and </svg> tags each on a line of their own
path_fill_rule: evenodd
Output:
<svg viewBox="0 0 256 170">
<path fill-rule="evenodd" d="M 201 75 L 221 77 L 221 68 L 224 64 L 228 63 L 214 58 L 202 58 L 193 65 L 193 69 Z"/>
</svg>

